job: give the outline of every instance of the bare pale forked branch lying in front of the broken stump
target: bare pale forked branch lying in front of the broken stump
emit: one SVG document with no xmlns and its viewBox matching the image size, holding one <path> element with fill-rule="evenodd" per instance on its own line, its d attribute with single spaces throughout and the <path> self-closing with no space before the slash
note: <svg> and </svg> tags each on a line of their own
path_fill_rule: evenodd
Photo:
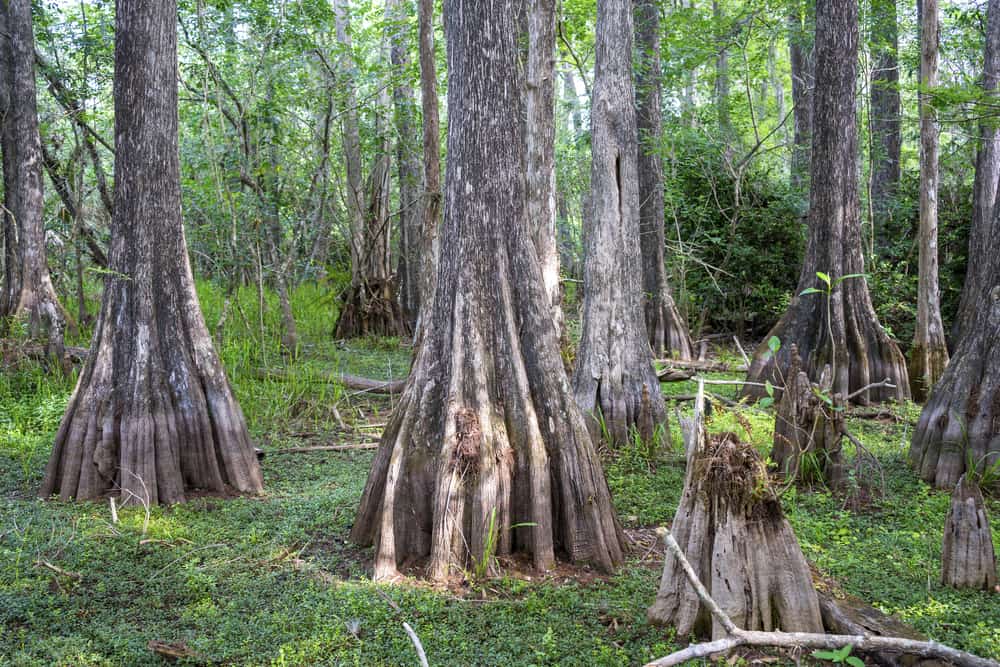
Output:
<svg viewBox="0 0 1000 667">
<path fill-rule="evenodd" d="M 681 569 L 687 576 L 688 581 L 694 587 L 698 598 L 708 607 L 712 616 L 719 621 L 720 625 L 729 633 L 728 637 L 717 639 L 712 642 L 692 644 L 685 649 L 675 651 L 670 655 L 647 663 L 646 667 L 672 667 L 680 665 L 688 660 L 704 658 L 716 653 L 728 652 L 739 646 L 770 646 L 777 648 L 806 648 L 806 649 L 840 649 L 850 645 L 862 651 L 891 651 L 918 655 L 924 658 L 938 658 L 947 660 L 959 667 L 1000 667 L 1000 662 L 980 658 L 977 655 L 959 651 L 958 649 L 939 644 L 935 641 L 920 641 L 915 639 L 902 639 L 899 637 L 880 637 L 871 635 L 824 635 L 814 632 L 761 632 L 741 630 L 736 627 L 732 619 L 719 608 L 715 600 L 702 585 L 698 576 L 691 568 L 691 564 L 684 556 L 684 551 L 677 540 L 666 528 L 661 528 L 659 532 L 663 535 L 663 541 L 667 549 L 680 562 Z"/>
</svg>

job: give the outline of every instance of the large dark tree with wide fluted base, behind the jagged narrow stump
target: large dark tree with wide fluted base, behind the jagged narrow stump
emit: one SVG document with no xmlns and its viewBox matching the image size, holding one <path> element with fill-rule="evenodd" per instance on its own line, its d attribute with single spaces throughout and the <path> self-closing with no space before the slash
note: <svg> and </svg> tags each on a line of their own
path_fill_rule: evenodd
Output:
<svg viewBox="0 0 1000 667">
<path fill-rule="evenodd" d="M 799 284 L 788 310 L 754 353 L 748 379 L 784 384 L 792 344 L 802 367 L 816 379 L 834 369 L 832 389 L 845 396 L 889 378 L 895 388 L 878 386 L 858 394 L 861 404 L 909 397 L 906 362 L 878 322 L 863 277 L 847 278 L 826 294 L 801 294 L 823 288 L 817 272 L 834 281 L 864 273 L 857 183 L 858 8 L 848 0 L 820 3 L 816 14 L 816 122 L 813 128 L 809 238 Z M 829 313 L 829 317 L 828 317 Z M 781 339 L 776 354 L 767 340 Z M 758 387 L 744 395 L 760 397 Z"/>
</svg>

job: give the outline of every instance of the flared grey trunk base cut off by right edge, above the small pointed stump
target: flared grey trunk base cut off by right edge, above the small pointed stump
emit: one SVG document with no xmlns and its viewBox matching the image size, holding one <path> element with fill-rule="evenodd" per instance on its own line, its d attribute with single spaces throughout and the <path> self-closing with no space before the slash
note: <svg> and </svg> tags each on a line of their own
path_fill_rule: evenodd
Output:
<svg viewBox="0 0 1000 667">
<path fill-rule="evenodd" d="M 970 458 L 980 471 L 1000 459 L 998 254 L 991 255 L 987 274 L 994 286 L 927 399 L 910 443 L 910 463 L 939 489 L 953 488 Z"/>
</svg>

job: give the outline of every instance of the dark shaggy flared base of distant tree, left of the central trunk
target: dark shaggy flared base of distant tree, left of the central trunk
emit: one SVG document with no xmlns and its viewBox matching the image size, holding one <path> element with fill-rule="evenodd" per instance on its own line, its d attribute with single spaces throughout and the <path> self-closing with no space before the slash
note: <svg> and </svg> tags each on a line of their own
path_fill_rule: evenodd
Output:
<svg viewBox="0 0 1000 667">
<path fill-rule="evenodd" d="M 407 338 L 410 326 L 396 299 L 392 282 L 369 281 L 351 287 L 344 296 L 333 337 L 384 336 Z"/>
</svg>

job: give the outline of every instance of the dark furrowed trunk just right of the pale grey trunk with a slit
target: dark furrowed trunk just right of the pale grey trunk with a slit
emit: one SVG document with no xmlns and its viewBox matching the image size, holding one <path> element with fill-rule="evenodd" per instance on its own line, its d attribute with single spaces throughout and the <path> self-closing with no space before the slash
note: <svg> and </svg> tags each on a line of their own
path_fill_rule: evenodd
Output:
<svg viewBox="0 0 1000 667">
<path fill-rule="evenodd" d="M 636 72 L 639 127 L 639 234 L 646 335 L 656 356 L 691 359 L 691 335 L 667 284 L 663 233 L 663 111 L 660 100 L 660 9 L 635 3 L 639 63 Z"/>
</svg>

